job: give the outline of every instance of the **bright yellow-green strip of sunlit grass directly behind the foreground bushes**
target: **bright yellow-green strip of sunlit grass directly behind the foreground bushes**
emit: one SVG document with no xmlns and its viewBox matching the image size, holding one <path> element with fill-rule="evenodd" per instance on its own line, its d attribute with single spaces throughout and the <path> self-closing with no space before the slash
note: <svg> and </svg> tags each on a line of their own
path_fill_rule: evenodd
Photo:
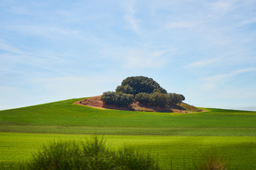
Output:
<svg viewBox="0 0 256 170">
<path fill-rule="evenodd" d="M 94 135 L 60 135 L 0 133 L 0 162 L 28 161 L 32 153 L 53 141 L 87 140 Z M 256 137 L 188 137 L 188 136 L 151 136 L 151 135 L 105 135 L 106 145 L 112 149 L 131 146 L 142 152 L 151 152 L 159 159 L 159 165 L 168 169 L 171 166 L 183 168 L 193 166 L 197 159 L 215 150 L 225 157 L 228 166 L 240 169 L 256 167 Z M 253 168 L 254 167 L 254 168 Z"/>
</svg>

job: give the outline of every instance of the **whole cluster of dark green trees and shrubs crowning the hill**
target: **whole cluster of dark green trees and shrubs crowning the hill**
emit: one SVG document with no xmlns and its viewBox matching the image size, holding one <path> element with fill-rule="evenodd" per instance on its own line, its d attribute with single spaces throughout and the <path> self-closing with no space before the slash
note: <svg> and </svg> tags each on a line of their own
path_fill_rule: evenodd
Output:
<svg viewBox="0 0 256 170">
<path fill-rule="evenodd" d="M 107 91 L 102 95 L 106 104 L 125 107 L 134 100 L 147 106 L 166 106 L 181 103 L 185 100 L 182 94 L 168 94 L 156 81 L 148 77 L 127 77 L 117 86 L 115 92 Z"/>
</svg>

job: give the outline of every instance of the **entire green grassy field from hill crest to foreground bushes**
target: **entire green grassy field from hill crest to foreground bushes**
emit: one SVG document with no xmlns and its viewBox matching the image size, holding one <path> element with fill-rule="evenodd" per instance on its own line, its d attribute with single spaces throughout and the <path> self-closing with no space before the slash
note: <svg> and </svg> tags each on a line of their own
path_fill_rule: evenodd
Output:
<svg viewBox="0 0 256 170">
<path fill-rule="evenodd" d="M 28 161 L 42 145 L 104 135 L 113 149 L 151 152 L 164 169 L 189 169 L 210 152 L 230 169 L 256 169 L 256 112 L 114 111 L 73 104 L 81 98 L 0 111 L 0 162 Z"/>
</svg>

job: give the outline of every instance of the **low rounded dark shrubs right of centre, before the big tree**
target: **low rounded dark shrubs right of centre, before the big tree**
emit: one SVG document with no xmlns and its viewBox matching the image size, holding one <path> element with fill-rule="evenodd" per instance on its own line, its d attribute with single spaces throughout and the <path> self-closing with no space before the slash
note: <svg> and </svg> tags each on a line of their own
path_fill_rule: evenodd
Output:
<svg viewBox="0 0 256 170">
<path fill-rule="evenodd" d="M 164 107 L 166 105 L 171 106 L 181 103 L 185 100 L 185 97 L 182 94 L 161 94 L 155 92 L 152 94 L 139 93 L 135 96 L 135 100 L 148 106 Z"/>
</svg>

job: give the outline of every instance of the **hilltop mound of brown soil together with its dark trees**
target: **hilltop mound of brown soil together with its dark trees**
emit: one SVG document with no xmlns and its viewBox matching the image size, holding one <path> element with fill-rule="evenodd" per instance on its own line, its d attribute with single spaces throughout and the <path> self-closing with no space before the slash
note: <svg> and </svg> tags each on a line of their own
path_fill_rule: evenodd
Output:
<svg viewBox="0 0 256 170">
<path fill-rule="evenodd" d="M 79 101 L 78 104 L 97 108 L 124 111 L 191 113 L 202 111 L 183 103 L 183 94 L 168 93 L 154 79 L 137 76 L 127 77 L 115 91 L 106 91 Z"/>
</svg>

